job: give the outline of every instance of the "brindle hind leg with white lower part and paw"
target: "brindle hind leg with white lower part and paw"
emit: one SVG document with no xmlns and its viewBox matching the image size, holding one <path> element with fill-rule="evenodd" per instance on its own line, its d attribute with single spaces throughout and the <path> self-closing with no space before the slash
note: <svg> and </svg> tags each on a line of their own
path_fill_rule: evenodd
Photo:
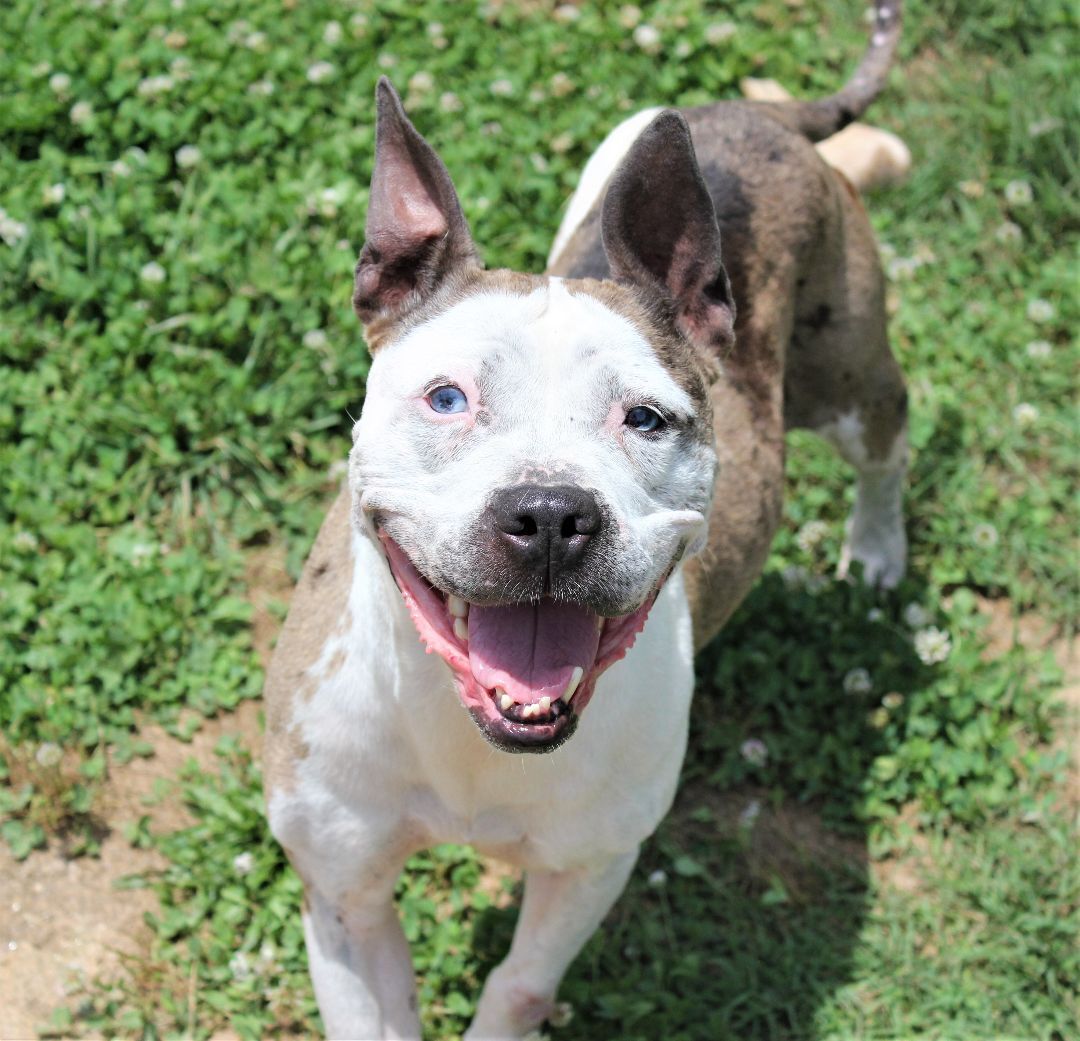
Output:
<svg viewBox="0 0 1080 1041">
<path fill-rule="evenodd" d="M 809 266 L 813 274 L 800 283 L 784 420 L 788 429 L 820 434 L 855 468 L 840 574 L 859 563 L 866 582 L 892 587 L 907 560 L 907 390 L 889 349 L 885 279 L 869 221 L 849 185 L 839 182 L 837 195 L 839 241 L 826 244 L 833 256 Z"/>
</svg>

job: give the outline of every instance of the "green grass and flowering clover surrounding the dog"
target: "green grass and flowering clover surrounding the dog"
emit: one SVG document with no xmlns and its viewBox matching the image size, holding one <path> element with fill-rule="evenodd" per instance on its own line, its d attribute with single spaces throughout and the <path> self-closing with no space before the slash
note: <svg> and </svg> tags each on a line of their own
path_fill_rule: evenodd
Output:
<svg viewBox="0 0 1080 1041">
<path fill-rule="evenodd" d="M 144 720 L 190 733 L 258 691 L 245 558 L 284 540 L 295 572 L 363 403 L 349 290 L 376 77 L 443 154 L 488 263 L 539 270 L 625 113 L 734 96 L 747 75 L 826 93 L 863 45 L 858 6 L 0 11 L 0 832 L 16 853 L 92 852 L 94 792 L 111 759 L 149 753 Z M 915 170 L 869 208 L 912 388 L 910 576 L 880 598 L 827 578 L 849 475 L 793 437 L 768 573 L 702 658 L 678 805 L 569 974 L 569 1041 L 1075 1029 L 1061 677 L 1018 646 L 990 655 L 983 606 L 1076 624 L 1076 21 L 1056 0 L 907 6 L 873 117 Z M 191 829 L 132 833 L 170 864 L 146 880 L 152 949 L 56 1031 L 315 1028 L 257 765 L 227 747 L 185 785 Z M 459 848 L 403 879 L 431 1037 L 468 1023 L 513 887 Z"/>
</svg>

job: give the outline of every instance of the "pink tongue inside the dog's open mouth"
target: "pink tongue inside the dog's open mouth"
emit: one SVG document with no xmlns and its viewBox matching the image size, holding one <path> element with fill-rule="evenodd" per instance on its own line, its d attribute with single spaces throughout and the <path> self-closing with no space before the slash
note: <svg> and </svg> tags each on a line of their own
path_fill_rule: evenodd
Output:
<svg viewBox="0 0 1080 1041">
<path fill-rule="evenodd" d="M 469 608 L 469 663 L 488 690 L 502 687 L 514 701 L 529 704 L 546 694 L 554 701 L 573 675 L 596 663 L 596 616 L 573 604 Z"/>
</svg>

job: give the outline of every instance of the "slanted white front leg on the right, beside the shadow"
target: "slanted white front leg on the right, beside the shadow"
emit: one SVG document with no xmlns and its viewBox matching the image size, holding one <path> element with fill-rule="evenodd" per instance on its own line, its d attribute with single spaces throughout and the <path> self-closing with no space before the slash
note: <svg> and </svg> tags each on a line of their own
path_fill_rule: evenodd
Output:
<svg viewBox="0 0 1080 1041">
<path fill-rule="evenodd" d="M 512 1041 L 555 1008 L 570 962 L 626 884 L 637 850 L 568 871 L 529 871 L 510 954 L 484 985 L 465 1041 Z"/>
</svg>

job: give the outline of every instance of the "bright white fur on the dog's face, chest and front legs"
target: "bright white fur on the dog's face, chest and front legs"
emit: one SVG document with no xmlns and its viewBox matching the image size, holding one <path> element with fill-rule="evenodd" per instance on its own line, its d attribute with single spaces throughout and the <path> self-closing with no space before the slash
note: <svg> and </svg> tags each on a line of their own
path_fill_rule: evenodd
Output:
<svg viewBox="0 0 1080 1041">
<path fill-rule="evenodd" d="M 434 420 L 417 405 L 431 379 L 472 386 L 482 370 L 489 424 Z M 492 489 L 523 468 L 570 465 L 616 511 L 619 555 L 648 590 L 680 544 L 700 541 L 715 460 L 712 447 L 643 447 L 612 424 L 612 407 L 636 395 L 673 414 L 692 408 L 637 329 L 597 300 L 557 281 L 527 297 L 465 299 L 373 363 L 353 432 L 354 506 L 393 511 L 394 537 L 437 563 L 461 552 Z M 523 1038 L 550 1014 L 674 797 L 693 687 L 681 571 L 599 678 L 569 742 L 515 756 L 486 743 L 449 668 L 424 652 L 370 535 L 353 535 L 347 627 L 310 670 L 314 693 L 293 706 L 306 754 L 269 800 L 309 894 L 323 1020 L 330 1037 L 420 1037 L 394 881 L 410 853 L 471 842 L 527 877 L 514 943 L 467 1038 Z"/>
</svg>

